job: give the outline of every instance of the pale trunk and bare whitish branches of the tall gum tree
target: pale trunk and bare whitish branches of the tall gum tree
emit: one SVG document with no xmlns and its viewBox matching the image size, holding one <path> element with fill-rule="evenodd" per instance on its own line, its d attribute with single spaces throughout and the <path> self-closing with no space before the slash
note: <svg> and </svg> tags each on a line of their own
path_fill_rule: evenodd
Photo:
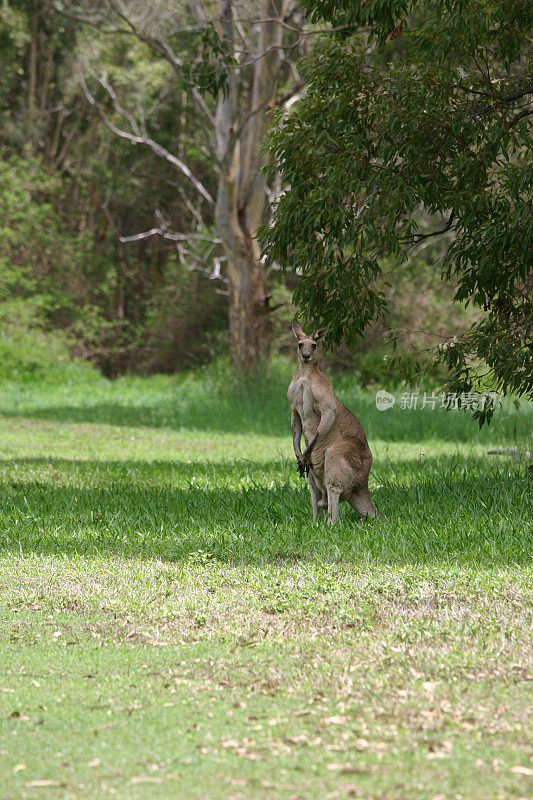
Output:
<svg viewBox="0 0 533 800">
<path fill-rule="evenodd" d="M 181 158 L 147 135 L 143 125 L 121 105 L 105 74 L 98 78 L 98 82 L 112 101 L 115 112 L 113 119 L 97 102 L 80 71 L 85 96 L 98 109 L 107 127 L 132 144 L 149 147 L 185 177 L 208 205 L 215 206 L 217 241 L 222 243 L 227 259 L 230 355 L 235 368 L 244 374 L 255 372 L 259 363 L 268 358 L 270 349 L 268 296 L 257 230 L 265 210 L 266 187 L 262 172 L 266 159 L 264 146 L 270 125 L 269 112 L 276 105 L 283 54 L 283 19 L 289 4 L 293 2 L 261 0 L 256 12 L 257 22 L 251 26 L 252 35 L 255 35 L 254 31 L 257 32 L 257 41 L 249 45 L 246 35 L 243 35 L 242 25 L 236 20 L 233 0 L 218 0 L 219 36 L 226 46 L 226 52 L 234 56 L 235 63 L 229 64 L 227 91 L 221 93 L 214 118 L 200 92 L 194 88 L 190 90 L 191 100 L 206 124 L 214 127 L 219 167 L 216 201 Z M 138 19 L 133 10 L 129 15 L 123 0 L 103 0 L 103 3 L 104 8 L 117 15 L 121 23 L 125 21 L 129 25 L 134 35 L 166 58 L 178 72 L 182 70 L 182 62 L 165 40 L 164 34 L 158 35 L 150 28 L 144 29 L 144 17 Z M 89 20 L 92 19 L 92 5 L 87 4 L 86 19 Z M 204 13 L 197 0 L 188 0 L 188 6 L 197 23 L 206 24 L 209 14 Z M 161 8 L 164 9 L 164 4 Z M 295 30 L 294 27 L 290 29 Z M 235 41 L 236 31 L 238 42 Z M 244 47 L 243 41 L 246 41 Z M 293 42 L 291 49 L 294 47 Z M 252 75 L 249 80 L 250 71 Z M 116 123 L 117 117 L 121 125 Z M 134 241 L 155 234 L 176 241 L 187 239 L 186 235 L 173 236 L 162 229 L 152 229 L 137 236 L 123 237 L 122 241 Z M 191 234 L 191 238 L 195 235 L 198 234 Z"/>
</svg>

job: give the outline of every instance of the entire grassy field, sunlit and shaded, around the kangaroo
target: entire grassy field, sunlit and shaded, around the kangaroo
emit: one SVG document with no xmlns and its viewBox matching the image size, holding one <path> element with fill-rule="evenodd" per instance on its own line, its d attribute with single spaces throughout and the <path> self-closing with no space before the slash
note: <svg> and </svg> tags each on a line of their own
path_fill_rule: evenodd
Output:
<svg viewBox="0 0 533 800">
<path fill-rule="evenodd" d="M 382 517 L 328 528 L 286 383 L 1 387 L 2 800 L 531 796 L 531 408 L 345 382 Z"/>
</svg>

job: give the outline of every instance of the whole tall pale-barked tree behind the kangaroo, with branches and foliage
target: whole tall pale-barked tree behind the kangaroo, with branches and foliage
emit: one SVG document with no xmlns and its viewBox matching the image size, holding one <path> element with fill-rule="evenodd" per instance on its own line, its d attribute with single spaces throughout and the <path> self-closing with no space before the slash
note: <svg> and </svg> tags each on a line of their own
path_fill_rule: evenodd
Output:
<svg viewBox="0 0 533 800">
<path fill-rule="evenodd" d="M 190 209 L 189 230 L 176 232 L 162 221 L 122 241 L 159 235 L 175 241 L 192 267 L 215 259 L 213 277 L 225 277 L 228 285 L 232 362 L 241 372 L 253 373 L 269 346 L 269 298 L 257 242 L 269 191 L 264 143 L 272 110 L 300 89 L 292 61 L 303 46 L 296 5 L 262 0 L 258 8 L 219 0 L 216 8 L 197 0 L 148 5 L 102 0 L 53 6 L 102 35 L 133 36 L 144 43 L 172 68 L 174 83 L 165 88 L 178 90 L 202 121 L 194 143 L 184 146 L 187 140 L 177 119 L 174 142 L 163 144 L 151 129 L 149 112 L 131 111 L 109 75 L 98 73 L 95 60 L 86 59 L 81 81 L 89 102 L 117 136 L 150 149 L 170 165 Z M 204 175 L 197 169 L 200 162 Z"/>
</svg>

